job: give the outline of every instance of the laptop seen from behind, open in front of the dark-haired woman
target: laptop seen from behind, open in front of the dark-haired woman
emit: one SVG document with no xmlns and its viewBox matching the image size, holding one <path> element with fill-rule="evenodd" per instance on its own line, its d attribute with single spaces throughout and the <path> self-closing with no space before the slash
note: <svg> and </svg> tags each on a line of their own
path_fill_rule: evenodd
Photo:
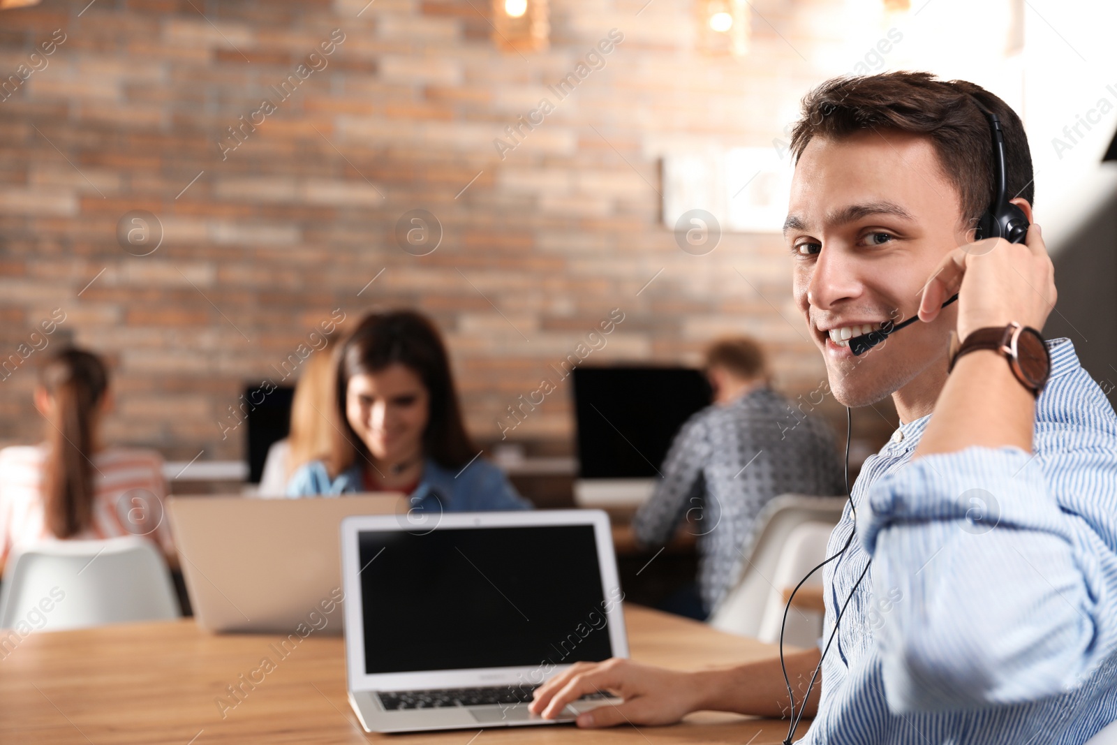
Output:
<svg viewBox="0 0 1117 745">
<path fill-rule="evenodd" d="M 171 497 L 168 513 L 198 625 L 210 631 L 341 633 L 342 518 L 413 525 L 399 494 L 304 499 Z"/>
</svg>

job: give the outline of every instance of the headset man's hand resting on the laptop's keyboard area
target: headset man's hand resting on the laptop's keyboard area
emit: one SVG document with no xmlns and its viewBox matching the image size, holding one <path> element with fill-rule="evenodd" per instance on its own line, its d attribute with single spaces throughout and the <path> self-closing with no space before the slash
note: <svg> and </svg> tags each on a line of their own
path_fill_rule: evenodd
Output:
<svg viewBox="0 0 1117 745">
<path fill-rule="evenodd" d="M 697 708 L 696 686 L 688 684 L 689 677 L 689 672 L 615 657 L 604 662 L 575 662 L 535 690 L 531 710 L 551 719 L 586 694 L 612 691 L 624 703 L 605 704 L 579 715 L 579 727 L 674 724 Z"/>
</svg>

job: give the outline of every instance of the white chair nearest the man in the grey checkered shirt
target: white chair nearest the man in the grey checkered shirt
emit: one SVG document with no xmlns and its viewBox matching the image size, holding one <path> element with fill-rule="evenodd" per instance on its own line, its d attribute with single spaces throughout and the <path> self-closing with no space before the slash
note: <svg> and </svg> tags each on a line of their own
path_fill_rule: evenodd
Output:
<svg viewBox="0 0 1117 745">
<path fill-rule="evenodd" d="M 720 631 L 743 637 L 761 638 L 763 632 L 765 641 L 779 641 L 779 621 L 775 622 L 773 639 L 771 619 L 776 608 L 780 620 L 783 619 L 784 585 L 776 580 L 794 588 L 810 569 L 825 557 L 820 553 L 825 551 L 823 533 L 829 536 L 829 531 L 824 526 L 830 526 L 832 529 L 838 524 L 844 505 L 846 497 L 809 497 L 798 494 L 781 495 L 768 502 L 756 516 L 755 527 L 742 546 L 742 555 L 745 558 L 738 563 L 737 579 L 710 613 L 709 624 Z M 800 531 L 794 536 L 793 543 L 789 544 L 795 529 L 804 524 L 812 525 Z M 789 555 L 782 558 L 789 545 L 791 545 Z M 798 572 L 799 566 L 815 555 L 818 561 Z M 822 570 L 819 570 L 815 573 L 818 582 L 822 581 L 821 572 Z M 792 627 L 792 615 L 802 621 L 799 612 L 793 610 L 787 617 L 789 631 Z M 795 646 L 813 644 L 818 638 L 818 633 L 809 637 L 813 625 L 808 621 L 804 628 L 796 629 L 795 641 L 787 636 L 784 637 L 784 641 Z M 818 630 L 821 628 L 819 618 Z"/>
</svg>

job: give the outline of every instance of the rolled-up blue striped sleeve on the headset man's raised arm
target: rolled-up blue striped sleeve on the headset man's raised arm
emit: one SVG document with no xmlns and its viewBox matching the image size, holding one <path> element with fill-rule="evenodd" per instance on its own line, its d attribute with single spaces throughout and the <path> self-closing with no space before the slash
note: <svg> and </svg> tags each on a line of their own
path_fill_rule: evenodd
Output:
<svg viewBox="0 0 1117 745">
<path fill-rule="evenodd" d="M 890 709 L 1035 700 L 1114 653 L 1114 445 L 970 447 L 871 485 L 857 532 L 875 595 L 899 596 L 875 638 Z"/>
</svg>

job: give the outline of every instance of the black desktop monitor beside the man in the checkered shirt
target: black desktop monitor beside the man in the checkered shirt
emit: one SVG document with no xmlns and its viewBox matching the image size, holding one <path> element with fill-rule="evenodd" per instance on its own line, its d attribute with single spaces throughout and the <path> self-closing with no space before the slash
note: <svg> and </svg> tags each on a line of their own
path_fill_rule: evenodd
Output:
<svg viewBox="0 0 1117 745">
<path fill-rule="evenodd" d="M 690 367 L 575 367 L 579 477 L 658 476 L 675 434 L 710 395 Z"/>
</svg>

